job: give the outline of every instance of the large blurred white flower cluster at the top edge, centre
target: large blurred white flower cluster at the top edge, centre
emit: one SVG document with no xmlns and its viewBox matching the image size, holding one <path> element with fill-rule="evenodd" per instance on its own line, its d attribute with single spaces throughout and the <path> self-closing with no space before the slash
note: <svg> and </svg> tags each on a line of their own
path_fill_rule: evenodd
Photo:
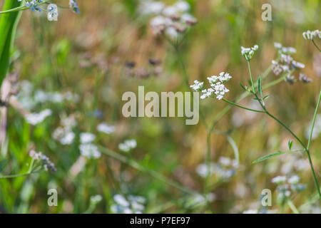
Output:
<svg viewBox="0 0 321 228">
<path fill-rule="evenodd" d="M 197 23 L 195 17 L 188 14 L 190 5 L 186 1 L 177 1 L 173 6 L 165 6 L 159 1 L 147 1 L 140 9 L 156 15 L 150 21 L 156 35 L 166 33 L 170 38 L 177 38 L 189 26 Z"/>
</svg>

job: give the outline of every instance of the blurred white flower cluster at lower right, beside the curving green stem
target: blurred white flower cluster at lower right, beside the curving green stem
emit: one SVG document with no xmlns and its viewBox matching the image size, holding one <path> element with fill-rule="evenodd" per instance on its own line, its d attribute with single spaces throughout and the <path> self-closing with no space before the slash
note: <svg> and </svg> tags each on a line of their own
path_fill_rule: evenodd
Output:
<svg viewBox="0 0 321 228">
<path fill-rule="evenodd" d="M 302 192 L 307 187 L 306 185 L 300 184 L 300 177 L 293 175 L 290 178 L 286 176 L 277 176 L 272 178 L 272 182 L 277 184 L 277 200 L 280 203 L 285 202 L 285 200 L 295 192 Z"/>
</svg>

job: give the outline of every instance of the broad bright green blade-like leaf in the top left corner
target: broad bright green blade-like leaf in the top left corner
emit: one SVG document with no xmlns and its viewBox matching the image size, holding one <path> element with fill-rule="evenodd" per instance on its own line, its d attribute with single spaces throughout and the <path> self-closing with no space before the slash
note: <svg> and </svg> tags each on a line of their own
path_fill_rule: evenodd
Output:
<svg viewBox="0 0 321 228">
<path fill-rule="evenodd" d="M 4 2 L 3 10 L 9 10 L 19 7 L 21 2 L 6 0 Z M 16 34 L 16 26 L 19 21 L 21 11 L 14 11 L 11 13 L 1 14 L 0 17 L 0 86 L 9 68 L 10 51 L 14 43 L 14 36 Z"/>
</svg>

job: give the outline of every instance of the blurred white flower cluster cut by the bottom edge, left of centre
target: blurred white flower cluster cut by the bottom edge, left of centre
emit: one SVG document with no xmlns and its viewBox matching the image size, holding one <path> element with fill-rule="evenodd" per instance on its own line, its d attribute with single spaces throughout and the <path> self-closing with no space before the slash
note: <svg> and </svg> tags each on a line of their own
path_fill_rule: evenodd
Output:
<svg viewBox="0 0 321 228">
<path fill-rule="evenodd" d="M 111 205 L 111 212 L 117 214 L 141 214 L 145 209 L 144 204 L 146 199 L 144 197 L 130 195 L 123 197 L 123 195 L 114 195 L 113 200 L 116 204 Z"/>
</svg>

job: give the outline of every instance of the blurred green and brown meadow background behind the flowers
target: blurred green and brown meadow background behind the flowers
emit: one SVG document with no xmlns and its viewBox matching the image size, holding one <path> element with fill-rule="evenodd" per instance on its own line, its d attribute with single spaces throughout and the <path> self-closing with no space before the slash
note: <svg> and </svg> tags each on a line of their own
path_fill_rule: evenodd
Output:
<svg viewBox="0 0 321 228">
<path fill-rule="evenodd" d="M 56 172 L 0 179 L 1 212 L 292 213 L 288 204 L 278 200 L 272 178 L 297 175 L 305 189 L 292 193 L 292 204 L 300 212 L 320 213 L 320 200 L 303 152 L 253 164 L 259 157 L 287 150 L 288 140 L 299 147 L 292 135 L 266 115 L 230 107 L 214 125 L 209 140 L 201 121 L 185 125 L 185 118 L 123 117 L 125 102 L 121 97 L 126 91 L 138 93 L 138 86 L 145 86 L 146 92 L 189 91 L 175 49 L 153 33 L 153 15 L 143 2 L 147 1 L 80 0 L 81 14 L 59 9 L 58 21 L 48 21 L 46 14 L 23 12 L 10 68 L 11 75 L 19 74 L 16 107 L 8 108 L 0 174 L 27 172 L 30 150 L 48 156 Z M 167 6 L 175 3 L 162 2 Z M 68 1 L 55 3 L 68 7 Z M 230 92 L 225 98 L 236 100 L 243 93 L 240 83 L 248 81 L 240 46 L 260 47 L 251 61 L 254 78 L 277 58 L 275 42 L 297 49 L 292 56 L 305 64 L 302 72 L 312 83 L 283 81 L 265 91 L 270 95 L 266 103 L 271 113 L 307 143 L 320 90 L 321 55 L 302 32 L 320 26 L 321 2 L 188 3 L 190 14 L 198 20 L 180 43 L 190 84 L 228 72 L 233 80 L 226 85 Z M 261 19 L 265 3 L 272 5 L 272 21 Z M 321 45 L 320 39 L 316 42 Z M 297 72 L 294 75 L 298 77 Z M 275 79 L 271 72 L 263 85 Z M 240 103 L 257 105 L 251 98 Z M 200 102 L 208 125 L 229 106 L 216 99 Z M 36 125 L 23 115 L 26 110 L 39 113 L 47 109 L 51 115 Z M 62 139 L 66 126 L 71 135 Z M 81 133 L 95 136 L 93 143 L 100 156 L 81 155 L 80 140 L 85 137 Z M 318 115 L 310 151 L 319 181 L 320 139 Z M 127 144 L 121 144 L 126 140 Z M 213 166 L 208 178 L 207 141 Z M 47 204 L 47 192 L 52 188 L 58 191 L 57 207 Z M 260 204 L 263 189 L 272 191 L 270 207 Z"/>
</svg>

